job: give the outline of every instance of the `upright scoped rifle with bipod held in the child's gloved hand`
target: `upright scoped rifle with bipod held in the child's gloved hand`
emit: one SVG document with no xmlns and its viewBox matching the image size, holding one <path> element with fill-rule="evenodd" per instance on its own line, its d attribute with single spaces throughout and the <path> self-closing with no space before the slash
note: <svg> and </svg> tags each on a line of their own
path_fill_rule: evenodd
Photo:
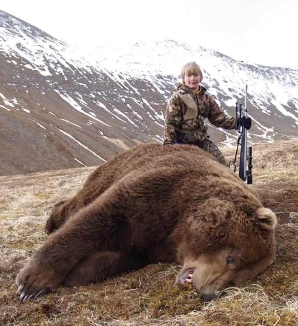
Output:
<svg viewBox="0 0 298 326">
<path fill-rule="evenodd" d="M 247 117 L 247 85 L 245 85 L 245 102 L 244 102 L 244 114 L 242 115 L 242 103 L 239 104 L 239 117 L 238 117 L 238 102 L 236 102 L 236 122 L 237 127 L 236 130 L 239 133 L 238 140 L 237 140 L 237 149 L 235 158 L 233 161 L 229 162 L 229 166 L 231 164 L 234 165 L 234 172 L 236 172 L 236 159 L 239 145 L 240 147 L 240 162 L 239 162 L 239 177 L 243 180 L 247 180 L 248 185 L 252 185 L 253 178 L 252 178 L 252 147 L 248 147 L 247 151 L 247 129 L 241 124 L 242 117 Z M 246 170 L 247 162 L 248 161 L 248 169 Z"/>
</svg>

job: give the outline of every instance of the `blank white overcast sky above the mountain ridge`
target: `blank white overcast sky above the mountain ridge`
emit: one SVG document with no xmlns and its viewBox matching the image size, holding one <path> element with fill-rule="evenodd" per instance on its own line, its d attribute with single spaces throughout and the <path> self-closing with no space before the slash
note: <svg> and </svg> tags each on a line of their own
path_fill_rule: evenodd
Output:
<svg viewBox="0 0 298 326">
<path fill-rule="evenodd" d="M 70 44 L 170 38 L 237 60 L 298 69 L 298 0 L 1 2 L 1 10 Z"/>
</svg>

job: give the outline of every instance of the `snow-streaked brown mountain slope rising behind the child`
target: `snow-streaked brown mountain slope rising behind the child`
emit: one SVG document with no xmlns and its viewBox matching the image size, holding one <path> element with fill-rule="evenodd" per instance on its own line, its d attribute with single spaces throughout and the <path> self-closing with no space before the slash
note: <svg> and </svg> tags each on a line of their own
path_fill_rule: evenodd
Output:
<svg viewBox="0 0 298 326">
<path fill-rule="evenodd" d="M 162 141 L 165 101 L 188 61 L 230 115 L 248 85 L 250 142 L 297 137 L 298 70 L 173 40 L 82 49 L 0 11 L 0 174 L 96 165 Z M 235 131 L 209 130 L 218 144 L 236 143 Z"/>
</svg>

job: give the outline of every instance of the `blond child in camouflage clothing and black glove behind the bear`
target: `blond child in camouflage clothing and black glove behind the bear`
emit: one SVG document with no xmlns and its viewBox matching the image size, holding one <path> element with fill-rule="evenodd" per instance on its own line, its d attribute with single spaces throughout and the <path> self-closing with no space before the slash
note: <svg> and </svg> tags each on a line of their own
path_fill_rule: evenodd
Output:
<svg viewBox="0 0 298 326">
<path fill-rule="evenodd" d="M 225 114 L 200 85 L 203 75 L 196 62 L 189 62 L 182 67 L 181 78 L 182 83 L 178 83 L 177 91 L 167 101 L 164 145 L 197 145 L 226 165 L 225 157 L 209 139 L 205 118 L 208 118 L 212 125 L 224 129 L 235 129 L 236 118 Z M 251 119 L 242 118 L 241 124 L 249 129 Z"/>
</svg>

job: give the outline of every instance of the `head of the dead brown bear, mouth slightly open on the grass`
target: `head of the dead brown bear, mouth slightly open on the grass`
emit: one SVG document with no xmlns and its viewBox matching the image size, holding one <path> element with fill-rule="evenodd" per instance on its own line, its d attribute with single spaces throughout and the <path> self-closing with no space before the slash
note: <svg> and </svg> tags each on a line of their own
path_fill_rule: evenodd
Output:
<svg viewBox="0 0 298 326">
<path fill-rule="evenodd" d="M 255 277 L 274 261 L 277 221 L 270 209 L 210 198 L 186 214 L 176 284 L 192 283 L 203 300 L 212 300 L 229 283 Z"/>
</svg>

